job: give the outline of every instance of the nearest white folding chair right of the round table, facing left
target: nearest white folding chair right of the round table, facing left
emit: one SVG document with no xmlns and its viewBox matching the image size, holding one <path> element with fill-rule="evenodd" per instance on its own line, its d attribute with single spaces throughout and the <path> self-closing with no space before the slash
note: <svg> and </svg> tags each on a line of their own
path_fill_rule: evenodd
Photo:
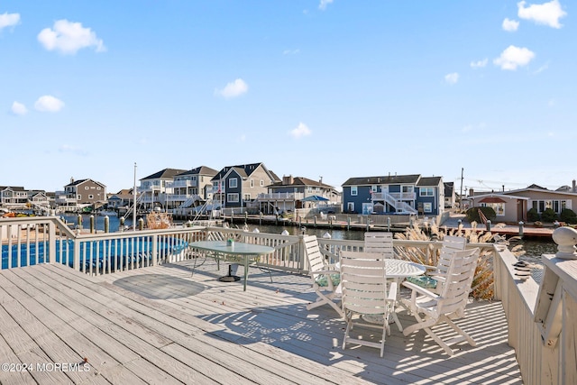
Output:
<svg viewBox="0 0 577 385">
<path fill-rule="evenodd" d="M 472 337 L 457 326 L 453 322 L 453 319 L 464 316 L 464 309 L 467 306 L 478 260 L 478 248 L 453 251 L 453 258 L 444 276 L 444 280 L 439 281 L 441 294 L 435 294 L 430 290 L 421 288 L 408 281 L 403 282 L 405 287 L 412 290 L 410 300 L 403 298 L 403 304 L 407 306 L 410 313 L 417 318 L 417 324 L 406 327 L 403 334 L 410 335 L 417 330 L 423 329 L 426 331 L 426 334 L 430 335 L 449 355 L 453 355 L 454 353 L 450 347 L 453 344 L 466 341 L 472 346 L 475 346 L 476 343 Z M 451 326 L 453 331 L 457 333 L 457 336 L 444 340 L 435 334 L 432 327 L 443 323 Z"/>
</svg>

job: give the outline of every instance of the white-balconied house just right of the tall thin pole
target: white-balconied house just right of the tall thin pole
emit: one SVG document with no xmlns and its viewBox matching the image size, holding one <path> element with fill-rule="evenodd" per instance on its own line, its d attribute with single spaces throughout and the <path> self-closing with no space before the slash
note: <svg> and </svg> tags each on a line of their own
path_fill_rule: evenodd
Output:
<svg viewBox="0 0 577 385">
<path fill-rule="evenodd" d="M 167 202 L 167 196 L 173 194 L 174 177 L 186 170 L 163 169 L 140 179 L 138 188 L 138 204 L 146 210 L 154 207 L 173 208 Z"/>
</svg>

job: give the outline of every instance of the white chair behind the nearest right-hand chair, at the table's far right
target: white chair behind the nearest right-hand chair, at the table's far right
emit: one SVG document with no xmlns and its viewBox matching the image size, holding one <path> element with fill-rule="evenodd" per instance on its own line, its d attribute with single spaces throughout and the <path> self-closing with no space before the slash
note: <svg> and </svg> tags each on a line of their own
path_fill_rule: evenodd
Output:
<svg viewBox="0 0 577 385">
<path fill-rule="evenodd" d="M 465 250 L 467 239 L 463 236 L 447 235 L 443 238 L 443 245 L 437 260 L 436 266 L 424 265 L 427 269 L 425 276 L 409 277 L 407 280 L 422 288 L 430 289 L 434 293 L 440 293 L 439 280 L 444 280 L 444 276 L 449 269 L 451 259 L 453 258 L 453 251 Z"/>
</svg>

